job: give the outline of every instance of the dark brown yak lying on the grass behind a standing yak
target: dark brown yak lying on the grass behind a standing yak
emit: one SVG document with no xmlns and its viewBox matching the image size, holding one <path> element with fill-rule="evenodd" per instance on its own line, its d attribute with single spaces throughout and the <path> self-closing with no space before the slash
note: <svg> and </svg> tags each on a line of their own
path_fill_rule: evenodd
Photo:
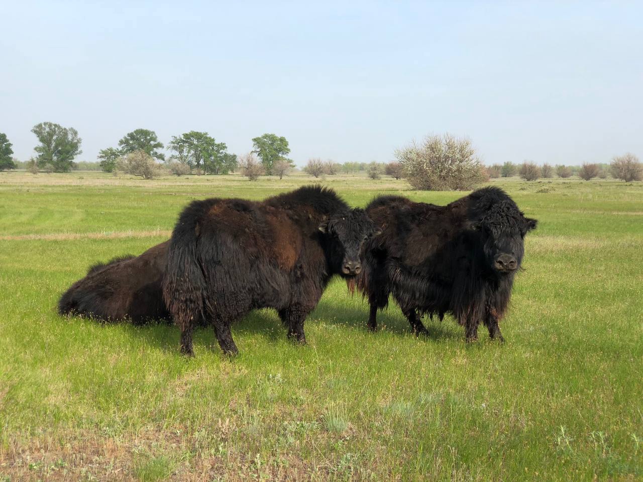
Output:
<svg viewBox="0 0 643 482">
<path fill-rule="evenodd" d="M 131 319 L 139 325 L 168 319 L 161 281 L 170 242 L 151 247 L 140 256 L 120 256 L 92 266 L 58 303 L 60 314 L 78 314 L 103 321 Z"/>
</svg>

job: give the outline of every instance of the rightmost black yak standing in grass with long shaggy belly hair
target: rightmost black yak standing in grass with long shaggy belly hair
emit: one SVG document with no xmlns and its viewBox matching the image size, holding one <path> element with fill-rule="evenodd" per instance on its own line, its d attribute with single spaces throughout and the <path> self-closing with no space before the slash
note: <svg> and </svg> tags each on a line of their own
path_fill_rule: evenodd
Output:
<svg viewBox="0 0 643 482">
<path fill-rule="evenodd" d="M 440 319 L 451 312 L 478 336 L 482 322 L 489 336 L 503 341 L 502 319 L 524 254 L 523 238 L 536 228 L 500 188 L 487 187 L 435 206 L 404 197 L 382 196 L 367 214 L 383 233 L 365 245 L 358 288 L 368 297 L 368 326 L 377 329 L 377 310 L 393 294 L 415 334 L 427 330 L 422 314 Z"/>
</svg>

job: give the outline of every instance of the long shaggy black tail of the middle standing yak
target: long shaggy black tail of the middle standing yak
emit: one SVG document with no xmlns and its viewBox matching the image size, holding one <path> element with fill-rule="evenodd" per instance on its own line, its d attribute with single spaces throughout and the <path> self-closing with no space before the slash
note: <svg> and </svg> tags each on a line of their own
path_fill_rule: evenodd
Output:
<svg viewBox="0 0 643 482">
<path fill-rule="evenodd" d="M 188 330 L 203 317 L 206 280 L 199 260 L 199 214 L 201 202 L 186 208 L 172 232 L 163 277 L 163 299 L 181 330 Z"/>
</svg>

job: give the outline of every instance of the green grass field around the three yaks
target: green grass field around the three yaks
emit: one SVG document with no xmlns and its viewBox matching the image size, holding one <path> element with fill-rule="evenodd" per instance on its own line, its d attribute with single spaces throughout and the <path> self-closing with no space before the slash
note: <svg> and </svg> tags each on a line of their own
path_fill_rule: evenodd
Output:
<svg viewBox="0 0 643 482">
<path fill-rule="evenodd" d="M 192 199 L 262 199 L 313 179 L 155 181 L 0 173 L 0 481 L 638 480 L 643 478 L 643 183 L 496 180 L 539 227 L 502 323 L 467 345 L 453 319 L 384 329 L 345 283 L 288 343 L 278 317 L 199 330 L 56 314 L 88 265 L 170 235 Z M 350 203 L 455 192 L 328 177 Z"/>
</svg>

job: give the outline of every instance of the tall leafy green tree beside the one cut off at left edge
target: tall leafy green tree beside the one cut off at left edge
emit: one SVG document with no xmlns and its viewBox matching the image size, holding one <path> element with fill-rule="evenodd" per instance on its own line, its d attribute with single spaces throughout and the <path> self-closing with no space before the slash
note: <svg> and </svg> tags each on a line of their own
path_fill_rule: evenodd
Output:
<svg viewBox="0 0 643 482">
<path fill-rule="evenodd" d="M 40 142 L 33 148 L 38 154 L 38 165 L 50 164 L 55 172 L 71 171 L 74 157 L 82 154 L 78 131 L 53 122 L 41 122 L 33 126 L 32 132 Z"/>
</svg>

